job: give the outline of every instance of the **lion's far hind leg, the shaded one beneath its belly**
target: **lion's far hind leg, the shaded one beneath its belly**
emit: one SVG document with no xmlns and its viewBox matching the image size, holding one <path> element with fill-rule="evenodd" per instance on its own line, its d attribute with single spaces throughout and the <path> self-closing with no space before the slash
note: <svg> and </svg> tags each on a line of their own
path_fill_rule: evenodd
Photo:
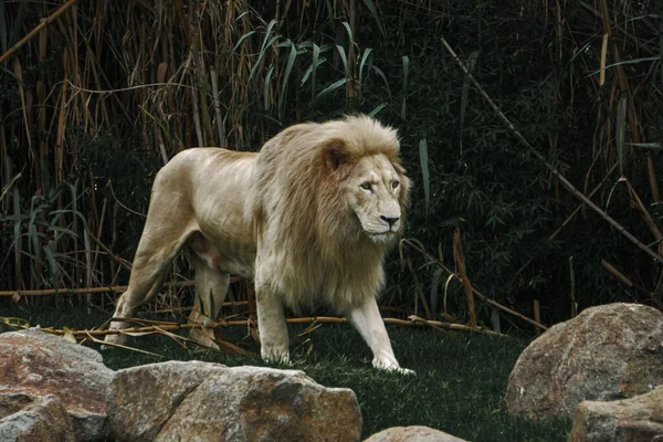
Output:
<svg viewBox="0 0 663 442">
<path fill-rule="evenodd" d="M 200 324 L 200 327 L 191 328 L 190 337 L 204 347 L 219 348 L 213 340 L 214 330 L 206 327 L 206 319 L 217 319 L 228 293 L 230 274 L 209 265 L 199 256 L 193 255 L 192 261 L 196 294 L 189 323 Z"/>
</svg>

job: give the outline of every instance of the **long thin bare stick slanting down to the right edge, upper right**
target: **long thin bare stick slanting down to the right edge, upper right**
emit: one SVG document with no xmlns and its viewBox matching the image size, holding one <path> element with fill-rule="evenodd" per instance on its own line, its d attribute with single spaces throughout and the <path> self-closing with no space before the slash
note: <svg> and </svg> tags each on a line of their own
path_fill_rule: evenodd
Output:
<svg viewBox="0 0 663 442">
<path fill-rule="evenodd" d="M 444 45 L 444 48 L 446 48 L 446 50 L 449 51 L 449 53 L 451 54 L 451 56 L 454 59 L 454 61 L 459 64 L 459 66 L 461 67 L 461 70 L 463 70 L 463 72 L 465 73 L 465 75 L 467 75 L 467 77 L 472 81 L 472 84 L 474 84 L 474 86 L 478 90 L 480 94 L 491 105 L 491 107 L 493 108 L 493 110 L 495 110 L 495 113 L 497 114 L 497 116 L 506 124 L 506 126 L 509 128 L 509 130 L 518 139 L 518 141 L 520 141 L 520 144 L 523 146 L 525 146 L 532 154 L 534 154 L 534 156 L 536 158 L 538 158 L 550 170 L 550 172 L 559 180 L 559 182 L 561 182 L 561 185 L 565 188 L 567 188 L 567 190 L 569 192 L 571 192 L 576 198 L 578 198 L 580 201 L 582 201 L 583 203 L 586 203 L 594 212 L 597 212 L 598 214 L 600 214 L 601 218 L 603 218 L 606 221 L 608 221 L 621 234 L 623 234 L 624 236 L 627 236 L 627 239 L 629 241 L 631 241 L 633 244 L 635 244 L 640 250 L 642 250 L 643 252 L 645 252 L 646 254 L 649 254 L 651 257 L 653 257 L 659 263 L 663 264 L 663 256 L 661 256 L 656 252 L 650 250 L 645 244 L 641 243 L 624 227 L 622 227 L 620 223 L 618 223 L 617 221 L 614 221 L 612 219 L 612 217 L 610 217 L 608 213 L 606 213 L 603 210 L 601 210 L 597 204 L 594 204 L 593 202 L 591 202 L 591 200 L 589 198 L 587 198 L 582 192 L 580 192 L 578 189 L 576 189 L 576 187 L 573 185 L 571 185 L 570 181 L 567 180 L 565 178 L 565 176 L 561 175 L 561 172 L 559 170 L 557 170 L 555 168 L 555 166 L 550 165 L 546 160 L 546 158 L 538 150 L 536 150 L 534 148 L 534 146 L 532 146 L 529 144 L 529 141 L 527 141 L 527 139 L 525 139 L 525 137 L 523 136 L 523 134 L 520 134 L 520 131 L 518 131 L 518 129 L 516 129 L 516 127 L 513 125 L 513 123 L 499 110 L 499 107 L 497 107 L 497 105 L 493 102 L 493 99 L 490 97 L 490 95 L 483 90 L 483 87 L 474 78 L 474 76 L 472 75 L 472 73 L 470 73 L 470 71 L 467 70 L 467 67 L 465 67 L 465 65 L 459 59 L 459 56 L 455 54 L 455 52 L 453 52 L 453 50 L 451 49 L 451 46 L 449 45 L 449 43 L 446 43 L 446 40 L 444 40 L 444 38 L 441 38 L 440 41 L 442 42 L 442 44 Z"/>
</svg>

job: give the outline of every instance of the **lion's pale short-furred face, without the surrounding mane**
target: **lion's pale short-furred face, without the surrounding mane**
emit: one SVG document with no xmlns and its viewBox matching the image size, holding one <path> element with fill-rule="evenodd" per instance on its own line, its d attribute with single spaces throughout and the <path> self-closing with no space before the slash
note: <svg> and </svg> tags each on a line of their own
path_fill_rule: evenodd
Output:
<svg viewBox="0 0 663 442">
<path fill-rule="evenodd" d="M 349 208 L 375 242 L 389 242 L 401 228 L 400 178 L 385 155 L 361 158 L 345 181 Z"/>
</svg>

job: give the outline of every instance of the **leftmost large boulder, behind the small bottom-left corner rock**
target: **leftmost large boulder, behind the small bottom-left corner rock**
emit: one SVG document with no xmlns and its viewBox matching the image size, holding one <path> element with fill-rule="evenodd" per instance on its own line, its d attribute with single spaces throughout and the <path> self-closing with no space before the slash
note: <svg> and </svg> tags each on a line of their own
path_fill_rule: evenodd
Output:
<svg viewBox="0 0 663 442">
<path fill-rule="evenodd" d="M 31 328 L 0 335 L 0 418 L 24 410 L 41 399 L 60 401 L 78 441 L 103 439 L 106 387 L 114 371 L 87 347 Z M 52 409 L 54 406 L 48 406 Z M 31 415 L 38 415 L 32 410 Z M 66 439 L 63 439 L 66 440 Z"/>
</svg>

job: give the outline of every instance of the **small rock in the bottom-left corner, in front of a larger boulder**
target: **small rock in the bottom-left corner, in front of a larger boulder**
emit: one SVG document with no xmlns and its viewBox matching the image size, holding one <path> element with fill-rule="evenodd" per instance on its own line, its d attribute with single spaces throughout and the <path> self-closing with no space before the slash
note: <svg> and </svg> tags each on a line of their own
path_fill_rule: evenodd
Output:
<svg viewBox="0 0 663 442">
<path fill-rule="evenodd" d="M 53 396 L 17 396 L 1 403 L 0 441 L 74 442 L 74 427 L 62 402 Z"/>
</svg>

